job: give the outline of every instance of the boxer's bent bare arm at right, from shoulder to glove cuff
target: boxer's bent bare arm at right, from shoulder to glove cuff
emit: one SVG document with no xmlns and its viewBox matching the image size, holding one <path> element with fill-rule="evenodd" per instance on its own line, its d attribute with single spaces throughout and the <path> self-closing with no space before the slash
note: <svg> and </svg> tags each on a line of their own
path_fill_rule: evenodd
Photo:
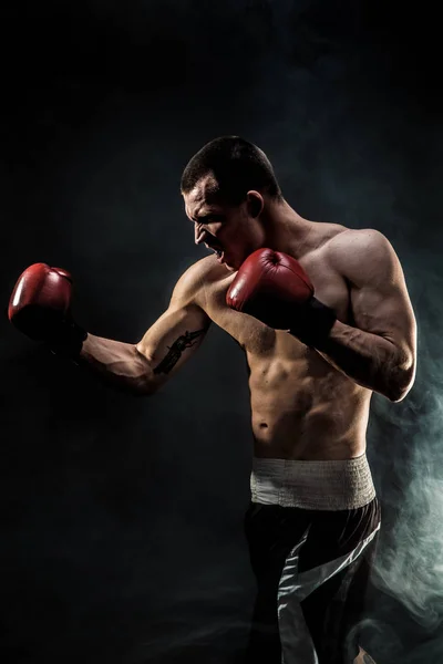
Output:
<svg viewBox="0 0 443 664">
<path fill-rule="evenodd" d="M 349 230 L 330 260 L 350 289 L 352 324 L 339 320 L 318 352 L 360 385 L 393 402 L 415 376 L 416 323 L 400 261 L 377 230 Z"/>
</svg>

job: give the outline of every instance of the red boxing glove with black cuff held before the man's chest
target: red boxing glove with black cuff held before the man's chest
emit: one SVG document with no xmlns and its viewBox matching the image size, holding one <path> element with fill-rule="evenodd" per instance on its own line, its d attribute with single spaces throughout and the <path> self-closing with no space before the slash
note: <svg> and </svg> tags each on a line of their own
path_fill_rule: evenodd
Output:
<svg viewBox="0 0 443 664">
<path fill-rule="evenodd" d="M 307 345 L 319 344 L 336 321 L 332 309 L 313 297 L 313 286 L 298 260 L 272 249 L 248 256 L 226 303 L 270 328 L 288 330 Z"/>
</svg>

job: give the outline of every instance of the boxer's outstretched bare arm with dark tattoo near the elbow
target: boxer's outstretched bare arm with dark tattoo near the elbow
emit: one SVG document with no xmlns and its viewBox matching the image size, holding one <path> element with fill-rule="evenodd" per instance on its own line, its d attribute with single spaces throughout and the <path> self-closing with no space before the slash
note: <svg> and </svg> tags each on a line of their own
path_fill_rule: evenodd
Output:
<svg viewBox="0 0 443 664">
<path fill-rule="evenodd" d="M 198 303 L 197 266 L 178 280 L 168 309 L 136 343 L 89 334 L 80 363 L 115 386 L 137 395 L 153 394 L 200 345 L 210 320 Z"/>
</svg>

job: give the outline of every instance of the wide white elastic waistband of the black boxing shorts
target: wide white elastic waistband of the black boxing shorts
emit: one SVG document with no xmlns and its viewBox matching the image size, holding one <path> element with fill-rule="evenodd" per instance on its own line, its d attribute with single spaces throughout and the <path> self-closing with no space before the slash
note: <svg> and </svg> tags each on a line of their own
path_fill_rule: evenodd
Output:
<svg viewBox="0 0 443 664">
<path fill-rule="evenodd" d="M 255 457 L 253 502 L 340 510 L 368 505 L 375 497 L 365 454 L 339 461 L 299 461 Z"/>
</svg>

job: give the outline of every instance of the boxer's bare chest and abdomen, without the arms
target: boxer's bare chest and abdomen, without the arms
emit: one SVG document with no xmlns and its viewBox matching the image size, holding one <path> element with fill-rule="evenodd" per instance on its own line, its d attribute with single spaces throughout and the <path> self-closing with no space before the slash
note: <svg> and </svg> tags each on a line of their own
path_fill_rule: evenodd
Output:
<svg viewBox="0 0 443 664">
<path fill-rule="evenodd" d="M 316 248 L 300 263 L 311 278 L 316 297 L 349 323 L 349 287 L 328 261 L 328 243 L 344 230 L 319 224 Z M 213 262 L 212 257 L 205 260 Z M 255 456 L 344 459 L 361 455 L 371 392 L 295 336 L 229 309 L 225 297 L 231 280 L 233 276 L 216 264 L 209 271 L 202 304 L 246 353 Z"/>
</svg>

